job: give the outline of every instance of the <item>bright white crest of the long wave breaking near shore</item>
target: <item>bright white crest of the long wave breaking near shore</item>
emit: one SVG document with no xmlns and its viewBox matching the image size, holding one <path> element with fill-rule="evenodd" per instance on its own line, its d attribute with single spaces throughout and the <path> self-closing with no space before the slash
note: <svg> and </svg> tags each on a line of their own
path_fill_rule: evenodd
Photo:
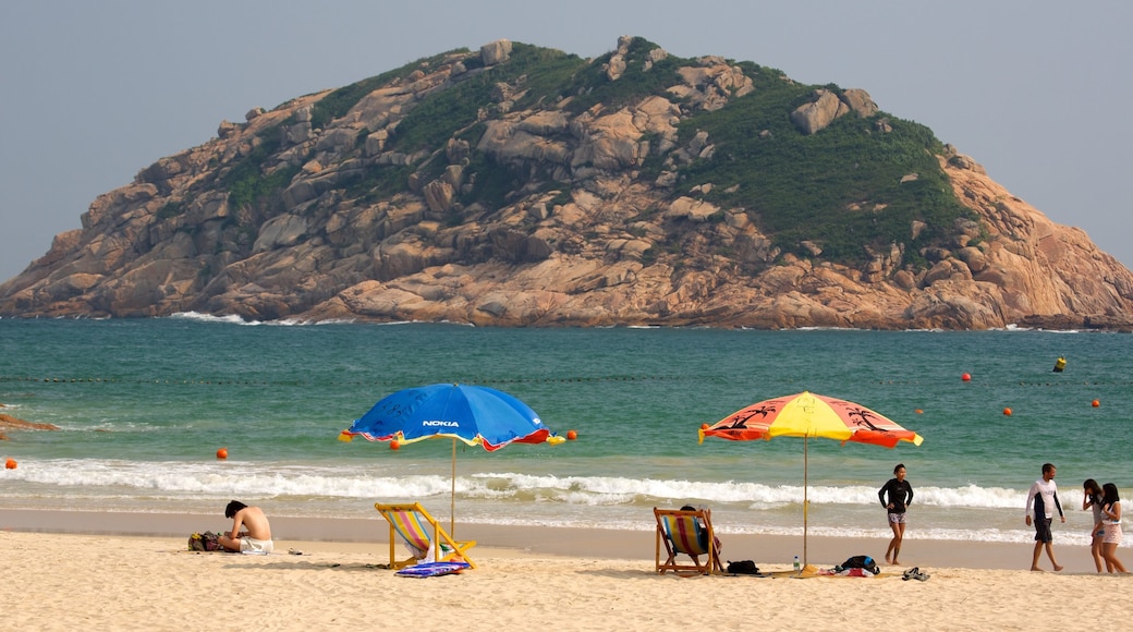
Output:
<svg viewBox="0 0 1133 632">
<path fill-rule="evenodd" d="M 122 428 L 118 428 L 122 429 Z M 144 428 L 139 428 L 144 430 Z M 29 461 L 15 478 L 53 486 L 133 487 L 151 492 L 242 492 L 259 495 L 374 497 L 382 495 L 436 495 L 451 490 L 443 473 L 410 475 L 380 470 L 375 466 L 295 466 L 291 463 L 144 462 L 110 460 Z M 649 504 L 696 499 L 705 504 L 780 507 L 802 502 L 801 485 L 759 482 L 705 482 L 687 479 L 585 477 L 484 472 L 458 476 L 457 487 L 474 498 L 525 497 L 533 493 L 562 502 L 610 505 L 624 502 Z M 409 494 L 409 495 L 412 495 Z M 807 489 L 811 503 L 826 506 L 875 507 L 877 490 L 864 486 L 813 485 Z M 1017 489 L 962 487 L 917 488 L 914 504 L 944 509 L 1020 510 L 1025 493 Z"/>
</svg>

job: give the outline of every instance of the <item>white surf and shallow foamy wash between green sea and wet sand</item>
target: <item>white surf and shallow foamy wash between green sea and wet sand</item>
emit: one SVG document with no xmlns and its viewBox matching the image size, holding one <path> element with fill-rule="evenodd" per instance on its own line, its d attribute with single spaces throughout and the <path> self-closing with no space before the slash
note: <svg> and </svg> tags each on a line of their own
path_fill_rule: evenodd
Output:
<svg viewBox="0 0 1133 632">
<path fill-rule="evenodd" d="M 286 515 L 358 518 L 376 501 L 446 506 L 455 485 L 461 520 L 516 526 L 642 529 L 653 506 L 708 505 L 721 532 L 800 532 L 802 487 L 685 479 L 555 476 L 495 471 L 458 475 L 400 462 L 342 466 L 293 462 L 26 460 L 5 472 L 8 506 L 100 511 L 215 510 L 225 498 L 271 499 Z M 887 537 L 877 492 L 864 486 L 808 489 L 813 535 Z M 1023 543 L 1022 492 L 917 488 L 911 538 Z M 1059 543 L 1088 541 L 1088 512 L 1070 512 Z M 1080 524 L 1081 523 L 1081 524 Z M 1081 532 L 1081 533 L 1079 533 Z M 1081 540 L 1081 541 L 1079 541 Z"/>
</svg>

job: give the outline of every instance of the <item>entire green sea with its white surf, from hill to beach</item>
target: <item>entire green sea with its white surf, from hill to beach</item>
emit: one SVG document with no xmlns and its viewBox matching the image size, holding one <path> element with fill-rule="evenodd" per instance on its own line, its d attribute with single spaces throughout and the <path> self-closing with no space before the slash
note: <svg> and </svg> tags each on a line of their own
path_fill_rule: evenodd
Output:
<svg viewBox="0 0 1133 632">
<path fill-rule="evenodd" d="M 0 461 L 17 468 L 0 470 L 0 507 L 219 514 L 239 498 L 369 518 L 374 502 L 419 501 L 448 520 L 454 480 L 458 522 L 651 530 L 651 507 L 692 504 L 725 533 L 802 535 L 806 477 L 810 535 L 888 537 L 877 490 L 900 462 L 908 538 L 1022 543 L 1049 461 L 1067 513 L 1056 538 L 1084 545 L 1082 481 L 1133 496 L 1131 358 L 1133 335 L 1098 332 L 0 319 L 0 412 L 61 428 L 7 433 Z M 448 439 L 338 441 L 381 398 L 433 383 L 506 391 L 578 438 L 458 444 L 455 459 Z M 925 442 L 810 439 L 804 468 L 799 438 L 697 441 L 701 424 L 800 391 Z"/>
</svg>

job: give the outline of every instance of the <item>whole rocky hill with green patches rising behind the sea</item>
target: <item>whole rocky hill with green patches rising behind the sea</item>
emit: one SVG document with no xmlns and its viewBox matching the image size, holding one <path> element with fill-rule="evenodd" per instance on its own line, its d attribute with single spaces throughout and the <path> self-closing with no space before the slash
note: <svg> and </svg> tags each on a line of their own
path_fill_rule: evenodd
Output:
<svg viewBox="0 0 1133 632">
<path fill-rule="evenodd" d="M 223 121 L 0 315 L 1128 328 L 1133 274 L 862 89 L 506 41 Z"/>
</svg>

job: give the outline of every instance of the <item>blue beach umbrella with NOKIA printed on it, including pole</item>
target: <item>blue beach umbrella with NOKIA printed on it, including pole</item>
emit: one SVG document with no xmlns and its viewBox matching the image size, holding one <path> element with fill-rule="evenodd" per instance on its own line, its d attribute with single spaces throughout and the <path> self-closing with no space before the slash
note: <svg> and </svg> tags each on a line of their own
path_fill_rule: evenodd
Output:
<svg viewBox="0 0 1133 632">
<path fill-rule="evenodd" d="M 398 447 L 429 438 L 452 439 L 452 501 L 457 503 L 457 441 L 495 452 L 512 443 L 564 441 L 543 425 L 538 413 L 521 400 L 487 386 L 431 384 L 404 388 L 381 399 L 339 435 L 341 441 L 361 436 L 374 442 L 397 442 Z M 451 519 L 450 535 L 455 527 Z"/>
</svg>

